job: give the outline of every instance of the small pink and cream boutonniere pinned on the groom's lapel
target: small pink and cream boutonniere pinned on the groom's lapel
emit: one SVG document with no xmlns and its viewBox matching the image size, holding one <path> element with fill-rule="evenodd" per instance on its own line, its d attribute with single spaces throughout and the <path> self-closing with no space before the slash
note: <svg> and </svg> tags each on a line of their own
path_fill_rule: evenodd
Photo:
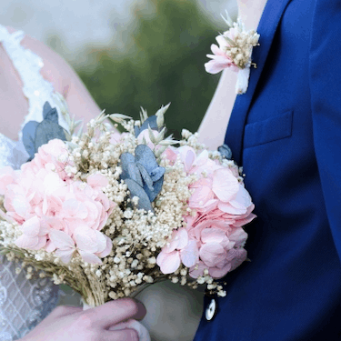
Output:
<svg viewBox="0 0 341 341">
<path fill-rule="evenodd" d="M 259 35 L 255 30 L 246 31 L 245 25 L 238 18 L 233 22 L 226 11 L 226 18 L 222 15 L 229 29 L 224 34 L 217 35 L 215 44 L 211 45 L 214 55 L 207 55 L 211 58 L 206 63 L 206 72 L 209 74 L 217 74 L 225 68 L 230 68 L 238 73 L 236 81 L 236 94 L 245 94 L 250 75 L 250 67 L 256 64 L 252 63 L 251 55 L 253 47 L 259 45 Z"/>
</svg>

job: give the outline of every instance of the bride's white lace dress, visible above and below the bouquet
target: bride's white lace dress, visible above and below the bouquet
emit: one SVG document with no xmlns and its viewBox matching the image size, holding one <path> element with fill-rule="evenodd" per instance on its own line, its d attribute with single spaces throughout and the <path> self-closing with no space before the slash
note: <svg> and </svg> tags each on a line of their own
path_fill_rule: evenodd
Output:
<svg viewBox="0 0 341 341">
<path fill-rule="evenodd" d="M 43 120 L 43 106 L 48 101 L 57 108 L 59 125 L 68 130 L 54 99 L 53 85 L 40 75 L 42 59 L 20 45 L 24 35 L 22 31 L 9 34 L 0 25 L 0 43 L 23 81 L 23 92 L 29 104 L 21 129 L 28 121 Z M 21 138 L 21 131 L 18 142 L 0 134 L 0 167 L 11 165 L 18 169 L 27 160 L 29 155 Z M 0 256 L 0 262 L 0 341 L 12 341 L 25 336 L 51 313 L 59 299 L 59 287 L 49 278 L 26 279 L 23 271 L 16 275 L 15 267 L 20 266 L 9 262 L 5 256 Z"/>
</svg>

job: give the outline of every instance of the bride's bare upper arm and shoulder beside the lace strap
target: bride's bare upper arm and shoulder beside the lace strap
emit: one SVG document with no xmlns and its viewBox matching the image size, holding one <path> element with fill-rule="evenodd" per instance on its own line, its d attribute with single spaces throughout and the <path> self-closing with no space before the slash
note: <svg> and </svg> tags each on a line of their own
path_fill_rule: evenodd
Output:
<svg viewBox="0 0 341 341">
<path fill-rule="evenodd" d="M 7 29 L 10 33 L 15 32 L 12 27 Z M 63 57 L 29 35 L 25 35 L 21 45 L 43 59 L 44 66 L 41 74 L 54 85 L 55 91 L 65 96 L 71 115 L 75 115 L 77 119 L 83 118 L 86 123 L 100 114 L 101 109 L 96 105 L 75 70 Z"/>
</svg>

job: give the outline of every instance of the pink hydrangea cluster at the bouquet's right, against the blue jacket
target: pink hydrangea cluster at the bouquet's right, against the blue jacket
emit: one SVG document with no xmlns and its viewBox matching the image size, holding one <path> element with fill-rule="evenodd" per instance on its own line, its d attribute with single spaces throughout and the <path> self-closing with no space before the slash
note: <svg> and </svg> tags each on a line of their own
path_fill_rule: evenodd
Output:
<svg viewBox="0 0 341 341">
<path fill-rule="evenodd" d="M 221 278 L 246 260 L 247 234 L 242 226 L 256 217 L 251 197 L 238 181 L 237 167 L 220 165 L 206 150 L 196 155 L 185 145 L 168 150 L 165 157 L 173 163 L 179 157 L 186 174 L 198 176 L 188 201 L 196 216 L 185 216 L 186 227 L 173 232 L 156 264 L 164 274 L 175 272 L 182 263 L 194 278 L 203 276 L 205 268 L 213 278 Z"/>
</svg>

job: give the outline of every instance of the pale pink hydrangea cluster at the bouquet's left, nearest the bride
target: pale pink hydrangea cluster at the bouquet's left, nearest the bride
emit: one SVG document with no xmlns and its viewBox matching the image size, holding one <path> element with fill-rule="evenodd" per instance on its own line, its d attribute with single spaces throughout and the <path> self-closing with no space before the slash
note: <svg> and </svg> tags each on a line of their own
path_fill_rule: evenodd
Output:
<svg viewBox="0 0 341 341">
<path fill-rule="evenodd" d="M 22 228 L 17 246 L 45 248 L 65 263 L 77 251 L 85 262 L 100 264 L 99 257 L 112 248 L 110 238 L 100 230 L 115 203 L 102 191 L 108 185 L 105 176 L 93 174 L 86 183 L 67 176 L 67 155 L 64 142 L 55 139 L 42 145 L 19 173 L 3 170 L 0 190 L 5 194 L 6 216 Z"/>
</svg>

